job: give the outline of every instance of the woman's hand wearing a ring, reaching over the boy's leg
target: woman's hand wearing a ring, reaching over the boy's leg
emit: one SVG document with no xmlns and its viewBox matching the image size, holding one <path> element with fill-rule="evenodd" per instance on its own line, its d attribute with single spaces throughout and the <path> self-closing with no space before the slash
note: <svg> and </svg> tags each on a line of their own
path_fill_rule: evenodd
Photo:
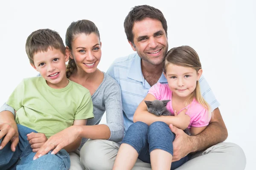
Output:
<svg viewBox="0 0 256 170">
<path fill-rule="evenodd" d="M 33 160 L 47 154 L 50 150 L 53 150 L 51 154 L 58 153 L 63 147 L 74 142 L 79 137 L 79 132 L 80 126 L 73 125 L 51 136 L 38 150 Z"/>
</svg>

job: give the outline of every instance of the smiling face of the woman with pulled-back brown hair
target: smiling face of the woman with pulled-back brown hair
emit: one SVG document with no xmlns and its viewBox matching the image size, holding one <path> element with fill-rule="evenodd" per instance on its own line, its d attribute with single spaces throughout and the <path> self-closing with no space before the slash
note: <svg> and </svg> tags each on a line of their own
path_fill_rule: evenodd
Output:
<svg viewBox="0 0 256 170">
<path fill-rule="evenodd" d="M 78 70 L 86 73 L 94 73 L 101 59 L 101 45 L 99 37 L 95 33 L 79 34 L 71 43 L 72 52 L 70 58 L 74 59 Z"/>
</svg>

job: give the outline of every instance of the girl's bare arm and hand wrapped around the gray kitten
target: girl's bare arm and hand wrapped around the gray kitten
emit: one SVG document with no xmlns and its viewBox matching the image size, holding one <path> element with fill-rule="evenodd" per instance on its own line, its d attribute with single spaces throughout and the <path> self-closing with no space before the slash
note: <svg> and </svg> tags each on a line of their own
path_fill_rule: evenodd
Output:
<svg viewBox="0 0 256 170">
<path fill-rule="evenodd" d="M 145 100 L 155 100 L 156 98 L 152 94 L 147 94 L 145 99 L 140 102 L 140 105 L 136 109 L 134 113 L 134 122 L 144 122 L 147 125 L 151 125 L 153 122 L 165 122 L 167 125 L 174 125 L 180 129 L 186 129 L 190 123 L 190 117 L 185 114 L 185 109 L 180 112 L 178 116 L 156 116 L 148 112 L 147 105 L 145 104 Z"/>
</svg>

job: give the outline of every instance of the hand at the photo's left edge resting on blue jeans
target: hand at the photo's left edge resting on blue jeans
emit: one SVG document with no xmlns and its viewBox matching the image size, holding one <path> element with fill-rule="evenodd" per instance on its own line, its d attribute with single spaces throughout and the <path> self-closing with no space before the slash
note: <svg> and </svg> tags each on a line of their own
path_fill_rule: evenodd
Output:
<svg viewBox="0 0 256 170">
<path fill-rule="evenodd" d="M 4 138 L 3 138 L 4 137 Z M 11 150 L 14 152 L 17 144 L 19 143 L 19 133 L 16 123 L 0 123 L 0 139 L 2 139 L 0 149 L 6 146 L 11 141 Z"/>
</svg>

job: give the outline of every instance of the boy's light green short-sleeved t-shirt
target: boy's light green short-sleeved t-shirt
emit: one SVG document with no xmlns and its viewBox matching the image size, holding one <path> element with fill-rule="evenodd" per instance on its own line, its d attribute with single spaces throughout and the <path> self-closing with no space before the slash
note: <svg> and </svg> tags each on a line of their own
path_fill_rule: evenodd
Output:
<svg viewBox="0 0 256 170">
<path fill-rule="evenodd" d="M 47 138 L 72 126 L 74 120 L 94 117 L 90 91 L 70 80 L 65 88 L 54 89 L 43 77 L 23 79 L 6 104 L 15 109 L 17 124 Z"/>
</svg>

